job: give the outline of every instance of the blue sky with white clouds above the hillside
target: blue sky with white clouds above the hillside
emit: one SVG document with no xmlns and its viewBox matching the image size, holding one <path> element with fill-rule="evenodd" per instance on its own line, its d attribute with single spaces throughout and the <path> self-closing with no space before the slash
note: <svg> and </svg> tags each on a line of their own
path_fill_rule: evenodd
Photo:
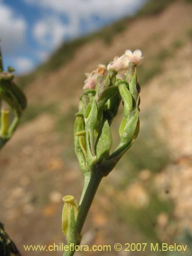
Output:
<svg viewBox="0 0 192 256">
<path fill-rule="evenodd" d="M 4 69 L 26 74 L 62 42 L 134 14 L 146 0 L 0 0 Z"/>
</svg>

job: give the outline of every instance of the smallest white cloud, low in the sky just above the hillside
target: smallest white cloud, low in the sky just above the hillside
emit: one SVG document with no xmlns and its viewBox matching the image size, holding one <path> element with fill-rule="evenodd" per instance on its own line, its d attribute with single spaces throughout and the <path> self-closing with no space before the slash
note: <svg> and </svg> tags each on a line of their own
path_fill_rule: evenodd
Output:
<svg viewBox="0 0 192 256">
<path fill-rule="evenodd" d="M 19 74 L 26 74 L 34 68 L 34 63 L 30 58 L 17 57 L 14 60 L 14 67 Z"/>
</svg>

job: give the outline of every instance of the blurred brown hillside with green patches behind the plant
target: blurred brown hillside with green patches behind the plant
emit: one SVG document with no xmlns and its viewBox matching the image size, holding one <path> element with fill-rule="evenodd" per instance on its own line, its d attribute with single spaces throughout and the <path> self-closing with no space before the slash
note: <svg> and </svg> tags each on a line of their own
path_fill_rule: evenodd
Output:
<svg viewBox="0 0 192 256">
<path fill-rule="evenodd" d="M 0 200 L 1 221 L 21 251 L 23 244 L 65 242 L 60 230 L 61 198 L 66 194 L 79 198 L 82 182 L 72 130 L 84 73 L 126 49 L 141 49 L 145 58 L 138 67 L 141 131 L 129 153 L 103 181 L 83 242 L 187 243 L 192 211 L 189 2 L 173 1 L 153 15 L 141 12 L 123 19 L 123 28 L 110 40 L 100 36 L 83 39 L 71 58 L 59 62 L 58 67 L 49 70 L 48 62 L 30 79 L 20 79 L 23 84 L 25 79 L 31 80 L 25 83 L 29 106 L 22 125 L 0 156 Z M 114 135 L 121 116 L 120 110 Z M 117 140 L 118 136 L 115 143 Z M 127 254 L 113 251 L 99 255 Z M 145 251 L 134 255 L 157 254 Z"/>
</svg>

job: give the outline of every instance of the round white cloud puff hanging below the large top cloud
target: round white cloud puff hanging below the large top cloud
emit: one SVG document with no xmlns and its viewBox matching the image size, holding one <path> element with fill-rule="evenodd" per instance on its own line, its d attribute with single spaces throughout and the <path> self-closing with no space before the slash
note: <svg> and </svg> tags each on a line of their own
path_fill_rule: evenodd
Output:
<svg viewBox="0 0 192 256">
<path fill-rule="evenodd" d="M 33 28 L 35 39 L 49 49 L 56 48 L 66 33 L 67 27 L 56 17 L 47 17 L 39 20 Z"/>
</svg>

